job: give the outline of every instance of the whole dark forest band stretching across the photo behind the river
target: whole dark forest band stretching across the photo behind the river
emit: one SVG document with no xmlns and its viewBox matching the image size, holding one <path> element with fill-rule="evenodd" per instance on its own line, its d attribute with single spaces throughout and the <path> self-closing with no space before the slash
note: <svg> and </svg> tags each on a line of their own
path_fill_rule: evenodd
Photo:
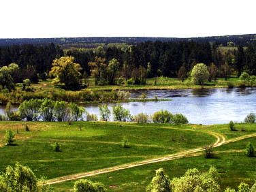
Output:
<svg viewBox="0 0 256 192">
<path fill-rule="evenodd" d="M 221 67 L 225 65 L 231 69 L 233 74 L 240 75 L 242 71 L 248 71 L 249 74 L 256 75 L 256 45 L 247 44 L 246 48 L 236 46 L 221 50 L 214 43 L 193 41 L 148 41 L 135 46 L 110 44 L 110 46 L 98 46 L 91 49 L 71 48 L 66 52 L 61 46 L 54 44 L 13 45 L 0 48 L 0 67 L 16 63 L 20 67 L 14 77 L 17 79 L 16 82 L 26 78 L 36 82 L 38 75 L 40 78 L 40 74 L 42 76 L 50 71 L 55 58 L 58 59 L 64 55 L 73 56 L 75 62 L 82 67 L 82 74 L 85 71 L 87 76 L 91 76 L 93 65 L 89 63 L 95 61 L 95 57 L 104 59 L 103 63 L 106 63 L 107 67 L 112 59 L 116 59 L 118 65 L 116 69 L 113 69 L 116 70 L 113 72 L 115 78 L 123 77 L 126 80 L 142 76 L 141 74 L 148 78 L 176 77 L 180 67 L 184 66 L 187 71 L 190 71 L 196 63 L 205 63 L 209 67 L 214 63 L 219 71 L 223 71 Z"/>
</svg>

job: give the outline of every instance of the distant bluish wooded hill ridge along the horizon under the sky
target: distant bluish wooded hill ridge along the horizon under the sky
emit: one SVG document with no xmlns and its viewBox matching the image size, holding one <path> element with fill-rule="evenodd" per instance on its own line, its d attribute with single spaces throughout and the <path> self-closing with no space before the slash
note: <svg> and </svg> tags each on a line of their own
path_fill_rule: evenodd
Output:
<svg viewBox="0 0 256 192">
<path fill-rule="evenodd" d="M 63 37 L 63 38 L 35 38 L 35 39 L 0 39 L 0 46 L 12 46 L 22 44 L 44 45 L 49 43 L 59 44 L 61 46 L 78 46 L 86 44 L 139 44 L 145 41 L 161 41 L 161 42 L 179 42 L 179 41 L 195 41 L 195 42 L 216 42 L 216 44 L 227 45 L 227 42 L 234 44 L 242 44 L 246 46 L 248 43 L 256 44 L 256 34 L 247 35 L 225 35 L 212 37 L 192 37 L 192 38 L 175 38 L 175 37 Z"/>
</svg>

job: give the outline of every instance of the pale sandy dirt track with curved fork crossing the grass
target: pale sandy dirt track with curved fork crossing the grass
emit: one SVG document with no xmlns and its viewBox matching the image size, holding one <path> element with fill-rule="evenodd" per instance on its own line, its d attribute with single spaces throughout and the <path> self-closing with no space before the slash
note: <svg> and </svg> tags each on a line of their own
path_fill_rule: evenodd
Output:
<svg viewBox="0 0 256 192">
<path fill-rule="evenodd" d="M 211 131 L 203 131 L 204 133 L 209 133 L 210 135 L 214 135 L 214 137 L 217 138 L 217 142 L 215 142 L 212 146 L 213 147 L 217 147 L 217 146 L 221 146 L 223 144 L 228 144 L 230 142 L 236 142 L 239 140 L 244 140 L 246 138 L 252 138 L 256 136 L 256 133 L 253 133 L 251 135 L 244 135 L 238 138 L 234 138 L 231 140 L 227 140 L 226 138 L 221 135 L 220 133 L 214 133 Z M 95 170 L 95 171 L 91 171 L 91 172 L 84 172 L 81 174 L 73 174 L 73 175 L 69 175 L 69 176 L 63 176 L 63 177 L 59 177 L 59 178 L 54 178 L 52 180 L 48 180 L 47 185 L 52 185 L 52 184 L 56 184 L 56 183 L 60 183 L 60 182 L 65 182 L 68 180 L 75 180 L 78 178 L 86 178 L 86 177 L 90 177 L 90 176 L 96 176 L 99 174 L 106 174 L 108 172 L 114 172 L 114 171 L 118 171 L 118 170 L 124 170 L 124 169 L 128 169 L 131 167 L 138 167 L 140 165 L 146 165 L 149 163 L 157 163 L 157 162 L 161 162 L 161 161 L 170 161 L 170 160 L 174 160 L 174 159 L 180 159 L 182 157 L 195 157 L 195 156 L 199 156 L 202 155 L 202 152 L 204 150 L 204 148 L 195 148 L 193 150 L 187 150 L 181 153 L 176 153 L 173 155 L 166 155 L 164 157 L 159 157 L 157 159 L 148 159 L 148 160 L 144 160 L 144 161 L 138 161 L 138 162 L 134 162 L 134 163 L 127 163 L 124 165 L 118 165 L 118 166 L 114 166 L 114 167 L 107 167 L 107 168 L 103 168 L 101 170 Z"/>
</svg>

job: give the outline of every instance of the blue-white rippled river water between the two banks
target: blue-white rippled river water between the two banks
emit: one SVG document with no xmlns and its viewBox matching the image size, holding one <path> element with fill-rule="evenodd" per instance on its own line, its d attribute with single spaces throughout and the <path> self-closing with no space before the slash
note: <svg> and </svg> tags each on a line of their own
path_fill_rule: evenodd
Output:
<svg viewBox="0 0 256 192">
<path fill-rule="evenodd" d="M 132 115 L 140 112 L 153 114 L 163 109 L 173 114 L 185 114 L 189 123 L 212 125 L 229 121 L 242 122 L 247 114 L 256 113 L 256 88 L 130 91 L 131 98 L 138 98 L 143 92 L 148 98 L 156 95 L 159 99 L 172 101 L 121 103 Z M 87 112 L 97 114 L 99 118 L 98 105 L 101 104 L 83 106 Z M 116 103 L 107 105 L 112 110 L 111 106 Z M 3 112 L 4 107 L 1 107 L 0 113 Z"/>
</svg>

